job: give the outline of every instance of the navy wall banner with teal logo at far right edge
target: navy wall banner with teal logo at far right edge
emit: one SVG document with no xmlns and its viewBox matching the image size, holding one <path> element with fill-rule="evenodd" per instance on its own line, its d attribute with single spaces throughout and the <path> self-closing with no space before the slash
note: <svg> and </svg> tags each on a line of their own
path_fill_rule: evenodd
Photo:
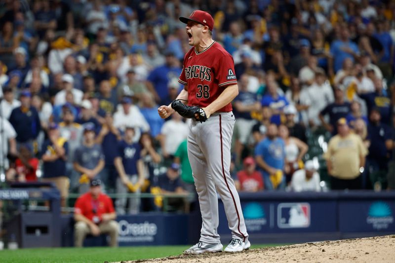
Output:
<svg viewBox="0 0 395 263">
<path fill-rule="evenodd" d="M 339 203 L 342 232 L 395 231 L 395 200 L 344 200 Z"/>
</svg>

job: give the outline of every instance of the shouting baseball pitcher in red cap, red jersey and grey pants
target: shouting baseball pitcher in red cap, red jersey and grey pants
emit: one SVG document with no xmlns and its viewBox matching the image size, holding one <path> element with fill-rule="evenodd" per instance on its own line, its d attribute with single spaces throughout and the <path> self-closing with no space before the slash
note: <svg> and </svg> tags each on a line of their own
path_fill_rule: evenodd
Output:
<svg viewBox="0 0 395 263">
<path fill-rule="evenodd" d="M 222 251 L 217 232 L 218 197 L 220 195 L 232 239 L 225 252 L 249 249 L 248 233 L 241 211 L 240 199 L 231 178 L 231 141 L 235 116 L 232 100 L 238 94 L 235 65 L 232 56 L 212 39 L 214 19 L 210 14 L 195 10 L 189 17 L 180 17 L 186 23 L 188 43 L 192 48 L 184 57 L 183 70 L 178 81 L 184 89 L 176 100 L 199 107 L 191 119 L 188 136 L 188 157 L 199 196 L 202 227 L 199 242 L 184 254 Z M 179 103 L 179 102 L 176 102 Z M 174 113 L 171 105 L 162 105 L 162 118 Z M 199 116 L 205 116 L 202 120 Z M 177 135 L 174 135 L 177 136 Z"/>
</svg>

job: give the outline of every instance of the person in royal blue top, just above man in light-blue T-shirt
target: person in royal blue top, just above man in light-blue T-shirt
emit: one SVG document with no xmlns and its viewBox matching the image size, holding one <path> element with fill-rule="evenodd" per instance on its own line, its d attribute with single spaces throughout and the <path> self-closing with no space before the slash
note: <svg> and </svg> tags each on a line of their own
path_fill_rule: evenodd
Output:
<svg viewBox="0 0 395 263">
<path fill-rule="evenodd" d="M 289 103 L 284 96 L 278 95 L 276 81 L 270 79 L 267 85 L 267 94 L 262 97 L 262 107 L 269 106 L 272 110 L 272 122 L 279 125 L 281 123 L 280 116 L 285 106 Z"/>
</svg>

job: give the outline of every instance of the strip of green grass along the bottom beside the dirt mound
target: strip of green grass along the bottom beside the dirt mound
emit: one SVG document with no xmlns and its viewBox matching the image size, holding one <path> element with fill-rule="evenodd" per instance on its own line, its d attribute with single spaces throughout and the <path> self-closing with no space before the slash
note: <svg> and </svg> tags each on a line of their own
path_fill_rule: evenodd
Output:
<svg viewBox="0 0 395 263">
<path fill-rule="evenodd" d="M 252 245 L 251 248 L 276 246 Z M 32 248 L 0 251 L 1 263 L 104 263 L 180 255 L 189 246 Z"/>
</svg>

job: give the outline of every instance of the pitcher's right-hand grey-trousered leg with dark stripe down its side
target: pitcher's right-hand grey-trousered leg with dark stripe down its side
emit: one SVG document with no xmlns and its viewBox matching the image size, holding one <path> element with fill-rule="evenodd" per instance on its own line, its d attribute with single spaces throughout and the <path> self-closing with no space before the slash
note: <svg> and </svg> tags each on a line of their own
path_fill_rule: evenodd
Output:
<svg viewBox="0 0 395 263">
<path fill-rule="evenodd" d="M 231 141 L 235 118 L 231 113 L 214 115 L 207 121 L 204 135 L 202 134 L 202 151 L 208 160 L 210 174 L 215 187 L 224 203 L 225 213 L 232 238 L 242 241 L 241 250 L 249 247 L 248 233 L 241 211 L 240 199 L 235 182 L 231 178 Z M 239 248 L 238 248 L 239 249 Z"/>
</svg>

